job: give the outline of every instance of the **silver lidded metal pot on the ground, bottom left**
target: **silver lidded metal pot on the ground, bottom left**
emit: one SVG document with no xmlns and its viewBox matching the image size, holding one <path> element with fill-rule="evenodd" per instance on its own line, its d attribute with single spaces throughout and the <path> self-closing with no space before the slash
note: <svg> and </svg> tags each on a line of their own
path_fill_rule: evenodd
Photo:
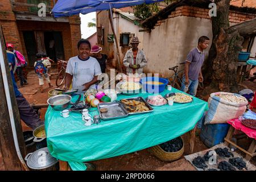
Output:
<svg viewBox="0 0 256 182">
<path fill-rule="evenodd" d="M 26 155 L 25 160 L 30 169 L 40 171 L 57 171 L 59 170 L 59 160 L 53 158 L 47 147 L 40 148 L 35 152 Z"/>
</svg>

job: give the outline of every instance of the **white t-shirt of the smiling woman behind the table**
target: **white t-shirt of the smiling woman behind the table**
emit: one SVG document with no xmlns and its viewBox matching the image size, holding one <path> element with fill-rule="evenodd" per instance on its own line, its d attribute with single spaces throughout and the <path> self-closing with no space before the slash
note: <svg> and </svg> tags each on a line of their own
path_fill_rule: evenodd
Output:
<svg viewBox="0 0 256 182">
<path fill-rule="evenodd" d="M 92 81 L 94 76 L 101 75 L 101 67 L 94 57 L 90 56 L 88 60 L 81 60 L 75 56 L 68 60 L 66 73 L 73 76 L 72 89 L 78 89 L 77 93 L 82 93 L 85 92 L 82 91 L 84 84 Z M 93 84 L 90 88 L 96 89 L 96 85 Z"/>
</svg>

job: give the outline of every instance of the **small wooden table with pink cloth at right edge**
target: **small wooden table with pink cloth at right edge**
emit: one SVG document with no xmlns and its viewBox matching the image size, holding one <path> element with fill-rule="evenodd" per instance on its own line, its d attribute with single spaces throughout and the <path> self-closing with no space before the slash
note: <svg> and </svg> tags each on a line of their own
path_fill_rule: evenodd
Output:
<svg viewBox="0 0 256 182">
<path fill-rule="evenodd" d="M 228 146 L 228 144 L 232 144 L 234 147 L 237 147 L 239 150 L 245 152 L 246 160 L 250 160 L 253 156 L 256 156 L 256 152 L 255 152 L 255 150 L 256 150 L 256 130 L 250 129 L 249 127 L 242 125 L 241 121 L 238 118 L 229 120 L 228 123 L 231 126 L 229 128 L 228 134 L 226 135 L 225 144 L 227 146 Z M 248 137 L 253 138 L 248 150 L 245 150 L 245 149 L 241 148 L 240 146 L 238 146 L 236 143 L 232 142 L 232 136 L 234 134 L 235 129 L 240 130 L 243 133 L 245 133 Z"/>
</svg>

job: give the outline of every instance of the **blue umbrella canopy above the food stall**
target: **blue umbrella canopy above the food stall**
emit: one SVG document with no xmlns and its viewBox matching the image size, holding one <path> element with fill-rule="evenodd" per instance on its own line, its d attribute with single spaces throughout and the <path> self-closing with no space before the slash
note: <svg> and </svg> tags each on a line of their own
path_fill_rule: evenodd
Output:
<svg viewBox="0 0 256 182">
<path fill-rule="evenodd" d="M 59 0 L 53 7 L 51 13 L 57 18 L 60 16 L 71 16 L 75 14 L 87 14 L 94 11 L 109 10 L 127 6 L 136 6 L 143 3 L 150 4 L 163 0 Z"/>
</svg>

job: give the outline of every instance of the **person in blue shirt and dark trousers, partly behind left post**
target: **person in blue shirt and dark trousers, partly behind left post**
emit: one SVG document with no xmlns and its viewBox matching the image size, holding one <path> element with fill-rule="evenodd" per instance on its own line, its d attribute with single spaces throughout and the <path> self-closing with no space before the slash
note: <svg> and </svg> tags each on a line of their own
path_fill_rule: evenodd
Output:
<svg viewBox="0 0 256 182">
<path fill-rule="evenodd" d="M 27 102 L 26 98 L 24 98 L 19 92 L 18 86 L 16 85 L 14 78 L 14 72 L 16 69 L 16 58 L 13 52 L 6 52 L 10 66 L 11 79 L 13 81 L 14 93 L 18 104 L 20 119 L 22 119 L 22 121 L 24 121 L 28 127 L 31 127 L 31 129 L 34 130 L 36 127 L 43 125 L 43 122 L 38 117 L 38 114 L 36 114 L 35 110 Z"/>
</svg>

